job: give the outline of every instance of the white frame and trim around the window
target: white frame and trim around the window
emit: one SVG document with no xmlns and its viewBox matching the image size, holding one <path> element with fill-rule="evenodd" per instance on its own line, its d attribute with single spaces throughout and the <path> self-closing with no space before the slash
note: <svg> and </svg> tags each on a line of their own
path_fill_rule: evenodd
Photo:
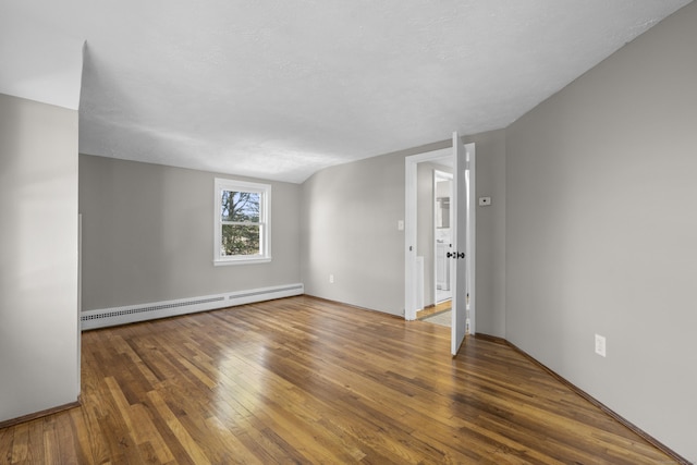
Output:
<svg viewBox="0 0 697 465">
<path fill-rule="evenodd" d="M 216 210 L 213 212 L 213 265 L 248 265 L 265 264 L 271 261 L 271 185 L 216 178 L 215 187 Z M 223 191 L 254 192 L 260 194 L 261 198 L 259 200 L 258 223 L 260 243 L 259 255 L 221 256 L 223 227 L 223 221 L 221 220 L 221 209 Z"/>
</svg>

